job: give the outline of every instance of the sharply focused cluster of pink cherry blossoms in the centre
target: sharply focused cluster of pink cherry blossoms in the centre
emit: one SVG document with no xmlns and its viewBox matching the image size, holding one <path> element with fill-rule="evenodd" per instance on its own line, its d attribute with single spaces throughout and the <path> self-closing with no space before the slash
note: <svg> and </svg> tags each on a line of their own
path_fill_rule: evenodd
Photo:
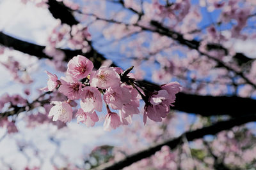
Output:
<svg viewBox="0 0 256 170">
<path fill-rule="evenodd" d="M 149 103 L 145 106 L 144 117 L 160 122 L 170 110 L 169 105 L 174 103 L 175 94 L 180 91 L 179 83 L 162 85 L 161 90 L 148 93 L 148 90 L 144 92 L 145 88 L 135 83 L 134 75 L 130 71 L 105 66 L 94 71 L 92 61 L 82 55 L 73 57 L 68 62 L 66 76 L 60 80 L 56 74 L 47 72 L 49 80 L 44 90 L 53 91 L 57 88 L 68 98 L 67 101 L 52 101 L 55 106 L 49 111 L 49 117 L 53 121 L 70 122 L 73 117 L 70 102 L 80 100 L 81 108 L 76 112 L 77 123 L 92 127 L 99 121 L 96 111 L 102 111 L 104 100 L 108 110 L 104 130 L 110 131 L 131 123 L 132 115 L 140 113 L 138 108 L 142 97 L 146 104 Z M 119 115 L 110 108 L 118 110 Z"/>
</svg>

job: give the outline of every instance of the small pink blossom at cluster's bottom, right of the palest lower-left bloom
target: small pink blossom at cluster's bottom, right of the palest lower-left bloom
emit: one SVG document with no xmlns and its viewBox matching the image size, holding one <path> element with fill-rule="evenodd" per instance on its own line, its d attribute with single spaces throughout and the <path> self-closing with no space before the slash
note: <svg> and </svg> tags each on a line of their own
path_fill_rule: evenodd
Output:
<svg viewBox="0 0 256 170">
<path fill-rule="evenodd" d="M 99 121 L 99 117 L 95 111 L 93 111 L 92 113 L 87 113 L 84 112 L 82 109 L 79 109 L 76 113 L 76 117 L 77 123 L 81 122 L 87 125 L 87 127 L 93 127 L 95 125 L 95 122 Z"/>
</svg>

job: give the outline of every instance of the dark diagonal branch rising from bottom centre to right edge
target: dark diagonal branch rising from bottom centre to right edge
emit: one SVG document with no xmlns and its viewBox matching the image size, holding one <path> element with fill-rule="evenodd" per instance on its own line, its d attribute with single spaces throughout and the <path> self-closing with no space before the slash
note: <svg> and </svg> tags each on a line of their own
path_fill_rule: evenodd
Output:
<svg viewBox="0 0 256 170">
<path fill-rule="evenodd" d="M 183 143 L 182 138 L 186 137 L 188 141 L 193 141 L 194 139 L 199 139 L 204 137 L 205 135 L 209 134 L 217 134 L 218 132 L 230 129 L 232 127 L 243 125 L 248 122 L 256 121 L 256 115 L 248 115 L 246 117 L 239 117 L 239 118 L 232 118 L 227 121 L 218 122 L 216 124 L 213 124 L 209 127 L 203 127 L 202 129 L 198 129 L 191 132 L 185 132 L 182 134 L 179 138 L 171 139 L 170 141 L 166 141 L 164 143 L 161 143 L 156 146 L 152 146 L 148 148 L 147 150 L 143 150 L 141 152 L 134 153 L 128 157 L 126 157 L 124 160 L 121 160 L 120 162 L 115 162 L 114 164 L 104 164 L 102 166 L 97 167 L 96 169 L 122 169 L 124 167 L 130 166 L 134 162 L 137 162 L 141 159 L 145 159 L 147 157 L 150 157 L 154 155 L 157 151 L 161 150 L 161 148 L 165 145 L 169 146 L 170 148 L 174 149 L 178 145 Z"/>
</svg>

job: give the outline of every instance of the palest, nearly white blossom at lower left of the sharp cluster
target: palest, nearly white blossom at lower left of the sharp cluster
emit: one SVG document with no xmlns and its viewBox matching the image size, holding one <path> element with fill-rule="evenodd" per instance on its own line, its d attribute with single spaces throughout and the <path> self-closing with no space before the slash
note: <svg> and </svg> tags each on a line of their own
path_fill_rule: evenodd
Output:
<svg viewBox="0 0 256 170">
<path fill-rule="evenodd" d="M 53 101 L 55 104 L 50 110 L 49 117 L 53 121 L 60 120 L 61 122 L 70 122 L 72 120 L 72 108 L 67 102 Z"/>
</svg>

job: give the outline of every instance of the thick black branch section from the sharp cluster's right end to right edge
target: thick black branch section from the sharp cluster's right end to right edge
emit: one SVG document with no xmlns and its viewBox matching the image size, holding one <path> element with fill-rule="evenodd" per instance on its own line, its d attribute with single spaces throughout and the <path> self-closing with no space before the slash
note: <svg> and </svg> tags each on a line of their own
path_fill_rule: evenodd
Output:
<svg viewBox="0 0 256 170">
<path fill-rule="evenodd" d="M 212 115 L 241 115 L 255 114 L 256 101 L 250 98 L 236 96 L 198 96 L 179 92 L 174 107 L 171 109 L 196 113 L 204 117 Z"/>
</svg>

